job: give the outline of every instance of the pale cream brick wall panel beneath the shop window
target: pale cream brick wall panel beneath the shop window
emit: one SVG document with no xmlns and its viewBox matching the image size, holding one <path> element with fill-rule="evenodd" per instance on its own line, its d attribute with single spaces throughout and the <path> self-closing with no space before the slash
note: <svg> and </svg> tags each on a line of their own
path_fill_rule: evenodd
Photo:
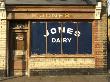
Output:
<svg viewBox="0 0 110 82">
<path fill-rule="evenodd" d="M 30 69 L 95 68 L 94 58 L 31 58 Z"/>
</svg>

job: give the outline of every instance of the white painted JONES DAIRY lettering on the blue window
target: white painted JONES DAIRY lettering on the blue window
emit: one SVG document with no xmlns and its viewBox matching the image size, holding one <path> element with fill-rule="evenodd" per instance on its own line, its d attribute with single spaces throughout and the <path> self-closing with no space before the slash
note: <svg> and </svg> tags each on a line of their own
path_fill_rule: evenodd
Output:
<svg viewBox="0 0 110 82">
<path fill-rule="evenodd" d="M 54 35 L 57 33 L 67 33 L 69 35 L 74 34 L 74 36 L 79 37 L 81 35 L 80 31 L 74 31 L 72 28 L 66 28 L 66 27 L 57 27 L 57 28 L 51 28 L 50 32 L 48 30 L 46 30 L 46 35 L 44 35 L 44 37 L 48 37 L 50 34 Z M 71 42 L 72 38 L 62 38 L 62 42 Z M 54 38 L 52 37 L 51 39 L 52 43 L 60 43 L 61 42 L 61 38 Z"/>
</svg>

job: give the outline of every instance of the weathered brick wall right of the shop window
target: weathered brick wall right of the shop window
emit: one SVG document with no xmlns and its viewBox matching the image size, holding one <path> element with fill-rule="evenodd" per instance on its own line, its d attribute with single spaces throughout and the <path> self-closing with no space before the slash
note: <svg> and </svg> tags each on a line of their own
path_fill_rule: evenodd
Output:
<svg viewBox="0 0 110 82">
<path fill-rule="evenodd" d="M 101 19 L 96 20 L 97 27 L 94 28 L 94 54 L 96 68 L 107 68 L 107 3 L 102 0 Z"/>
</svg>

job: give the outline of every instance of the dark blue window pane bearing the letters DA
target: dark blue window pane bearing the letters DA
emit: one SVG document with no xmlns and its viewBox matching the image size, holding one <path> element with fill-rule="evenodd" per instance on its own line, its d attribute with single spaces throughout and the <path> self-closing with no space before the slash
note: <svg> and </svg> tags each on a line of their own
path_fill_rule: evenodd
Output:
<svg viewBox="0 0 110 82">
<path fill-rule="evenodd" d="M 61 31 L 58 28 L 61 28 L 59 22 L 47 23 L 47 52 L 50 54 L 61 54 Z"/>
</svg>

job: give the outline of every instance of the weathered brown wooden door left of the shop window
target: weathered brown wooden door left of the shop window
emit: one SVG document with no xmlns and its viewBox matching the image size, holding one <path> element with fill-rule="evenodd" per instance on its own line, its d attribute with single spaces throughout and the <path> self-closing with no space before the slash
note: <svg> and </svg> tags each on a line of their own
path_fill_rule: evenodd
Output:
<svg viewBox="0 0 110 82">
<path fill-rule="evenodd" d="M 27 32 L 11 31 L 10 33 L 9 68 L 11 76 L 26 74 Z"/>
</svg>

